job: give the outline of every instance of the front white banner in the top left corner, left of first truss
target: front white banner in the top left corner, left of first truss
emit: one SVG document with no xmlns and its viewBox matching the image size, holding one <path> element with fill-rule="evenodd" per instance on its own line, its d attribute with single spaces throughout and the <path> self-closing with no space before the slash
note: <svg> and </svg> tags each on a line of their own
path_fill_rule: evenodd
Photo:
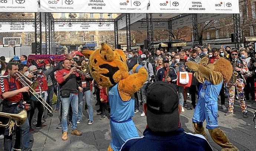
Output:
<svg viewBox="0 0 256 151">
<path fill-rule="evenodd" d="M 0 0 L 1 12 L 37 12 L 37 0 Z"/>
</svg>

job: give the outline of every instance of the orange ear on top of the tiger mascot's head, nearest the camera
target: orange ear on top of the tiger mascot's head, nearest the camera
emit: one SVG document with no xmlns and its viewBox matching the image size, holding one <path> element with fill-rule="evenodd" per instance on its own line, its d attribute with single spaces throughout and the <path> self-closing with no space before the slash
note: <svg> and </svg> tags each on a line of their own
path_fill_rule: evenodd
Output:
<svg viewBox="0 0 256 151">
<path fill-rule="evenodd" d="M 101 49 L 99 50 L 99 56 L 105 61 L 113 61 L 115 59 L 115 50 L 112 50 L 107 44 L 102 43 Z"/>
</svg>

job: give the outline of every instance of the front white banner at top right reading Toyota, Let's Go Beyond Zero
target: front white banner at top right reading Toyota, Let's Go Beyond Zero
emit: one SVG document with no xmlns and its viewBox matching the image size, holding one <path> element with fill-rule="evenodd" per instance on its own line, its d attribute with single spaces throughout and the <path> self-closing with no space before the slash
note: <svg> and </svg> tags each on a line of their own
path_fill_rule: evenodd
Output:
<svg viewBox="0 0 256 151">
<path fill-rule="evenodd" d="M 150 13 L 202 12 L 239 14 L 239 0 L 150 0 Z"/>
</svg>

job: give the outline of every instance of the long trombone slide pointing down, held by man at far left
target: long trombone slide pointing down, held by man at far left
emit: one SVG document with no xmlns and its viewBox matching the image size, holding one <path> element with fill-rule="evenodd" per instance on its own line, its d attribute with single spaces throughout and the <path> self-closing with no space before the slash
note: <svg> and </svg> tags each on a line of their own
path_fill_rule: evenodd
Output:
<svg viewBox="0 0 256 151">
<path fill-rule="evenodd" d="M 17 77 L 19 77 L 23 82 L 22 82 L 22 84 L 24 85 L 24 86 L 28 86 L 29 87 L 29 92 L 32 94 L 32 95 L 34 95 L 34 97 L 40 102 L 40 103 L 42 103 L 43 104 L 43 106 L 50 112 L 50 113 L 52 113 L 53 112 L 53 109 L 52 109 L 52 107 L 50 107 L 50 105 L 49 104 L 47 104 L 46 103 L 46 101 L 45 100 L 43 100 L 43 98 L 42 97 L 40 97 L 40 95 L 38 95 L 37 93 L 36 93 L 36 91 L 30 86 L 30 80 L 26 77 L 26 76 L 24 76 L 22 73 L 20 73 L 19 71 L 17 72 L 17 73 L 15 73 L 16 75 L 17 75 Z M 25 80 L 24 80 L 24 79 Z M 31 81 L 32 82 L 32 81 Z M 37 81 L 37 83 L 38 83 L 38 81 Z M 33 84 L 33 82 L 32 82 L 32 84 Z M 42 100 L 42 101 L 41 101 Z M 51 109 L 49 109 L 44 103 Z"/>
</svg>

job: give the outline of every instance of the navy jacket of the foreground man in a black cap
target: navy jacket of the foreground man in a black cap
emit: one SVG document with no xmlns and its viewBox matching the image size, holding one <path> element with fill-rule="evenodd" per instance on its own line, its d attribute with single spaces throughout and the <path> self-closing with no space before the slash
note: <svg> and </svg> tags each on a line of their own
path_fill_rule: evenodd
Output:
<svg viewBox="0 0 256 151">
<path fill-rule="evenodd" d="M 184 132 L 183 128 L 159 135 L 148 128 L 141 138 L 131 138 L 120 151 L 212 151 L 207 140 L 199 134 Z"/>
</svg>

